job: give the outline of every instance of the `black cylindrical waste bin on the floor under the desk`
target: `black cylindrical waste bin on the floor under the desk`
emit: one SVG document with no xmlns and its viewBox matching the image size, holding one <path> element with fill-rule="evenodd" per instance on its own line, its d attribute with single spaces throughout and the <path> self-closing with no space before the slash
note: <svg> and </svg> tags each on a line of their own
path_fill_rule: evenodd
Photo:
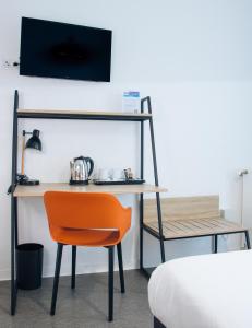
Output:
<svg viewBox="0 0 252 328">
<path fill-rule="evenodd" d="M 21 290 L 36 290 L 41 286 L 41 244 L 20 244 L 16 247 L 16 282 Z"/>
</svg>

